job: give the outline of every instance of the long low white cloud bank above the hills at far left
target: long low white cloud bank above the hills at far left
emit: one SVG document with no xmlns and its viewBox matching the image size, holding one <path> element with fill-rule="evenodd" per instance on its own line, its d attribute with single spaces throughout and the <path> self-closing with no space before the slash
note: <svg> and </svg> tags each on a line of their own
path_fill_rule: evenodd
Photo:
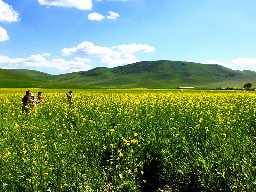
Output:
<svg viewBox="0 0 256 192">
<path fill-rule="evenodd" d="M 44 68 L 56 68 L 60 71 L 84 71 L 92 69 L 91 65 L 85 64 L 84 61 L 90 62 L 89 60 L 70 60 L 66 61 L 62 58 L 46 60 L 44 56 L 49 56 L 49 53 L 44 54 L 33 54 L 28 58 L 14 58 L 11 59 L 7 56 L 0 55 L 0 64 L 23 64 L 26 67 L 44 67 Z M 85 58 L 81 58 L 85 59 Z M 8 67 L 5 67 L 8 68 Z"/>
</svg>

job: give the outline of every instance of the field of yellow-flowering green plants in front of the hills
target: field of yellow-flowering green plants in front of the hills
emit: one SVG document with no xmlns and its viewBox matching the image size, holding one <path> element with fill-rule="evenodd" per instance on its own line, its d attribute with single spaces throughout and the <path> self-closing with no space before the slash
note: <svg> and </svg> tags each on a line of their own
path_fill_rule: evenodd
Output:
<svg viewBox="0 0 256 192">
<path fill-rule="evenodd" d="M 256 191 L 256 92 L 0 91 L 1 191 Z"/>
</svg>

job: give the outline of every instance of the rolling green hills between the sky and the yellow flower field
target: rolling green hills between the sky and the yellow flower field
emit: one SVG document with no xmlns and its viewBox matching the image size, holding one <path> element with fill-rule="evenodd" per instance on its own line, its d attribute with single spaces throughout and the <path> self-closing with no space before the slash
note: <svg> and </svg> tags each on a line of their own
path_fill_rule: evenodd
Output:
<svg viewBox="0 0 256 192">
<path fill-rule="evenodd" d="M 27 86 L 26 81 L 31 86 Z M 27 69 L 1 69 L 0 82 L 9 82 L 5 87 L 21 87 L 25 83 L 26 87 L 42 88 L 242 88 L 245 83 L 256 85 L 256 72 L 235 71 L 217 64 L 159 60 L 61 75 Z"/>
</svg>

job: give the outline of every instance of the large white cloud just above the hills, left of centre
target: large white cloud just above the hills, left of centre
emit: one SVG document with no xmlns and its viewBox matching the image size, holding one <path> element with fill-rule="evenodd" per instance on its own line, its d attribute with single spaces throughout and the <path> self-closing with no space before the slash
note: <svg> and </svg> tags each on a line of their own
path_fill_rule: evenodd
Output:
<svg viewBox="0 0 256 192">
<path fill-rule="evenodd" d="M 119 51 L 114 51 L 118 49 Z M 102 63 L 108 63 L 110 67 L 139 62 L 139 60 L 132 55 L 133 52 L 154 52 L 155 48 L 147 44 L 129 44 L 118 45 L 111 48 L 105 46 L 94 45 L 91 42 L 84 41 L 77 45 L 77 47 L 62 49 L 62 55 L 81 54 L 86 56 L 100 57 Z"/>
</svg>

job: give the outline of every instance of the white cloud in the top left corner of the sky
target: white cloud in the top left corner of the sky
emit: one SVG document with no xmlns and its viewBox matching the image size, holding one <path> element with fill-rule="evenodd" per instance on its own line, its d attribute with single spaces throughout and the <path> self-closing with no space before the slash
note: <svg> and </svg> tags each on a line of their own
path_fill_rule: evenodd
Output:
<svg viewBox="0 0 256 192">
<path fill-rule="evenodd" d="M 0 0 L 0 21 L 14 22 L 20 20 L 19 13 L 13 10 L 11 5 Z"/>
</svg>

